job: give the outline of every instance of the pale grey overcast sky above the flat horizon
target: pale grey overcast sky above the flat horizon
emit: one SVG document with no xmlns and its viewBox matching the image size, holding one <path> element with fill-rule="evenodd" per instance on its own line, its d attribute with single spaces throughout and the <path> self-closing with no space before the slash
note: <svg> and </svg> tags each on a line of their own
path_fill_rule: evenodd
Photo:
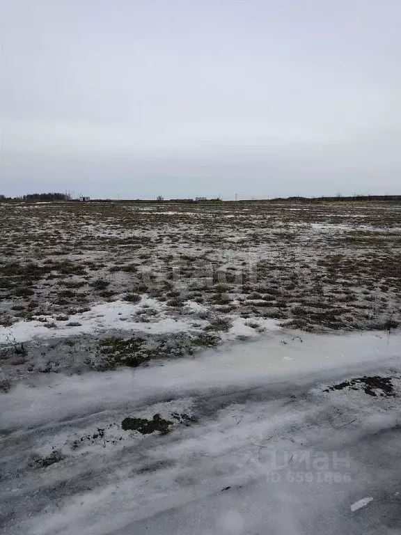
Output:
<svg viewBox="0 0 401 535">
<path fill-rule="evenodd" d="M 0 193 L 401 194 L 401 0 L 0 0 Z"/>
</svg>

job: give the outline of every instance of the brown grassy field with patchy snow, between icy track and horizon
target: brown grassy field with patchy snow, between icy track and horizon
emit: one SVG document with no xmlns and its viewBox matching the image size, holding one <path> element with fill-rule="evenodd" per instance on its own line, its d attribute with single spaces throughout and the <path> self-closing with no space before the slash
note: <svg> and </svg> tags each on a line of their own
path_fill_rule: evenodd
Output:
<svg viewBox="0 0 401 535">
<path fill-rule="evenodd" d="M 391 203 L 3 203 L 0 224 L 3 389 L 191 355 L 273 323 L 401 321 Z"/>
</svg>

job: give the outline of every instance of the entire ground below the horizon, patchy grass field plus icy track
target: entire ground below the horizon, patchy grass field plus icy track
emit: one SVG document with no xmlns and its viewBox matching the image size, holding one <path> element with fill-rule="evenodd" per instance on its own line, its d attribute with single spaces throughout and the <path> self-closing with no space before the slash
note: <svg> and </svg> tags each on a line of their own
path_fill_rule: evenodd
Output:
<svg viewBox="0 0 401 535">
<path fill-rule="evenodd" d="M 0 225 L 6 533 L 401 533 L 400 204 L 3 203 Z M 269 480 L 301 450 L 349 453 L 327 495 L 289 461 Z"/>
</svg>

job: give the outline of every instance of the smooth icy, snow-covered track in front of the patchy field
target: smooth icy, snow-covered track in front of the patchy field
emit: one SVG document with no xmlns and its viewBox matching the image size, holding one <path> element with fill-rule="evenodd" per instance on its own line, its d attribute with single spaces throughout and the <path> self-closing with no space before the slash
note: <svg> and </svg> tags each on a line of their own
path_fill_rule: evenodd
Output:
<svg viewBox="0 0 401 535">
<path fill-rule="evenodd" d="M 0 394 L 4 532 L 400 534 L 400 355 L 401 334 L 279 329 L 20 382 Z M 363 376 L 391 389 L 345 383 Z M 123 429 L 155 414 L 170 433 Z"/>
</svg>

